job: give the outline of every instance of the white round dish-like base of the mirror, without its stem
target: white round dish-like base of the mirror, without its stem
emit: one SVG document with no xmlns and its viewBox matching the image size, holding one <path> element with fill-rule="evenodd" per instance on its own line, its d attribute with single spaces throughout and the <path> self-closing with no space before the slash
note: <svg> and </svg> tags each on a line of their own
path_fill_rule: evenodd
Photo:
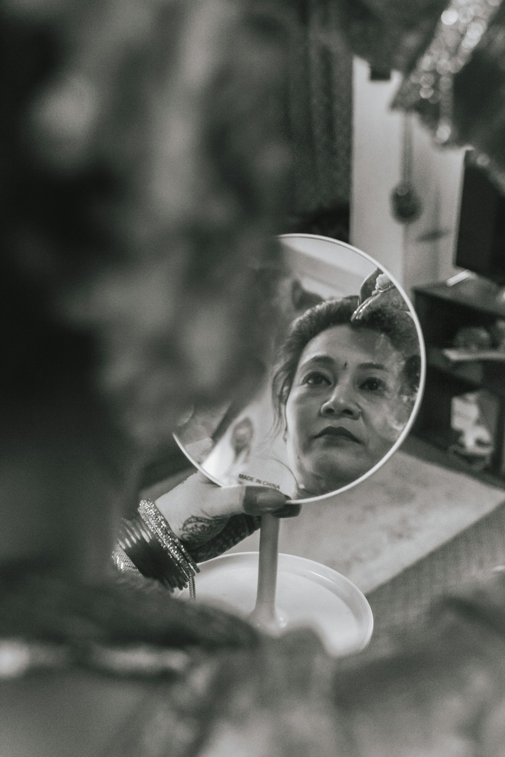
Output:
<svg viewBox="0 0 505 757">
<path fill-rule="evenodd" d="M 256 603 L 257 552 L 222 555 L 201 562 L 195 576 L 196 598 L 247 617 Z M 181 597 L 187 597 L 185 590 Z M 282 634 L 312 628 L 329 654 L 345 656 L 369 643 L 373 615 L 364 594 L 348 578 L 319 562 L 279 554 L 276 609 Z"/>
</svg>

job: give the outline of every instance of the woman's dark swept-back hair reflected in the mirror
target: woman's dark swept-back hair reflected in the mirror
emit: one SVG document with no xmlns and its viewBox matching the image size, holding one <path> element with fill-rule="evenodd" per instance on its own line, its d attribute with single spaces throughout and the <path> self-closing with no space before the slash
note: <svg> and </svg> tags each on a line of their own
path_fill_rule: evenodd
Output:
<svg viewBox="0 0 505 757">
<path fill-rule="evenodd" d="M 358 302 L 357 296 L 327 300 L 306 310 L 292 323 L 273 370 L 272 400 L 276 425 L 282 421 L 282 408 L 288 401 L 304 348 L 321 332 L 342 324 L 348 324 L 354 329 L 369 329 L 387 335 L 394 349 L 405 359 L 402 371 L 404 392 L 412 398 L 412 401 L 415 398 L 419 389 L 421 358 L 416 326 L 410 313 L 397 307 L 378 307 L 365 313 L 359 321 L 351 322 L 351 316 Z"/>
</svg>

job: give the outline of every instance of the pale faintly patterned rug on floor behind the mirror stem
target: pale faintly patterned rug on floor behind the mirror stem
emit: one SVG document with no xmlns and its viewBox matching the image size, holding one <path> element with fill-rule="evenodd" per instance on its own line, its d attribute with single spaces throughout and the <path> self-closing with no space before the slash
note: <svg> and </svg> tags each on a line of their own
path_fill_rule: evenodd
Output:
<svg viewBox="0 0 505 757">
<path fill-rule="evenodd" d="M 399 451 L 354 489 L 283 521 L 279 550 L 323 562 L 371 595 L 504 499 L 503 488 Z M 254 534 L 232 551 L 257 550 L 258 543 Z"/>
</svg>

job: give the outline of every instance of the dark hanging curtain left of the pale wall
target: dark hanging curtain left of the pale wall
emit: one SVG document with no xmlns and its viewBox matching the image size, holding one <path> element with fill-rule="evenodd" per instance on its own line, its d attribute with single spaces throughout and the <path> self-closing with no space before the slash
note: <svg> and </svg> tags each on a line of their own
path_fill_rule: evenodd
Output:
<svg viewBox="0 0 505 757">
<path fill-rule="evenodd" d="M 289 123 L 295 157 L 291 230 L 348 232 L 352 61 L 335 4 L 298 0 L 290 35 Z"/>
</svg>

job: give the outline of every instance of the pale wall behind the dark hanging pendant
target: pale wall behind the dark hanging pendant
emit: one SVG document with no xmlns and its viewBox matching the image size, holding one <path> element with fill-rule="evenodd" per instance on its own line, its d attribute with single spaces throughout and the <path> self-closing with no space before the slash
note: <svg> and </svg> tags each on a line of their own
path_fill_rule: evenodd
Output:
<svg viewBox="0 0 505 757">
<path fill-rule="evenodd" d="M 376 257 L 410 291 L 414 285 L 447 279 L 452 265 L 463 150 L 436 148 L 413 119 L 413 184 L 422 215 L 404 226 L 391 216 L 391 190 L 401 179 L 404 115 L 391 111 L 400 75 L 369 80 L 368 65 L 354 61 L 354 137 L 351 185 L 351 243 Z M 438 239 L 422 239 L 439 230 Z"/>
</svg>

